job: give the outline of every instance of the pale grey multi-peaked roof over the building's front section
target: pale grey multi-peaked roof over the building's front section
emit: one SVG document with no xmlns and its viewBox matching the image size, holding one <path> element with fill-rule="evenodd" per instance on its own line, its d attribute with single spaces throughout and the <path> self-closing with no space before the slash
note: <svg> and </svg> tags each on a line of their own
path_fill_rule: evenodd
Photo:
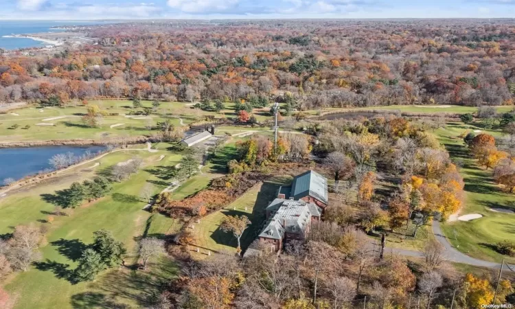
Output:
<svg viewBox="0 0 515 309">
<path fill-rule="evenodd" d="M 275 200 L 266 207 L 273 216 L 267 222 L 259 237 L 282 239 L 284 233 L 304 234 L 313 216 L 320 217 L 322 210 L 312 203 L 304 201 Z"/>
</svg>

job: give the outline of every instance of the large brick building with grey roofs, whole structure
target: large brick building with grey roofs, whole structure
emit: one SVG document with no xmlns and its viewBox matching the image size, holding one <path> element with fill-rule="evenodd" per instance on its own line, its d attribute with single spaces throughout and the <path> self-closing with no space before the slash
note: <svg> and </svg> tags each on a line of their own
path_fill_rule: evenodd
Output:
<svg viewBox="0 0 515 309">
<path fill-rule="evenodd" d="M 291 186 L 279 187 L 277 198 L 266 207 L 266 224 L 260 244 L 279 251 L 288 240 L 303 240 L 311 222 L 321 220 L 328 205 L 328 180 L 309 170 L 295 176 Z"/>
</svg>

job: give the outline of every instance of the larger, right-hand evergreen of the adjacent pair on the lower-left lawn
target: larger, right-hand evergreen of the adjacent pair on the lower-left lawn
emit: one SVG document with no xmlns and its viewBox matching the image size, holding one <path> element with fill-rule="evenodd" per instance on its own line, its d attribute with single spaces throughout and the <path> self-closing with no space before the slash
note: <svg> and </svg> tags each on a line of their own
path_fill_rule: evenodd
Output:
<svg viewBox="0 0 515 309">
<path fill-rule="evenodd" d="M 126 253 L 123 242 L 113 238 L 111 232 L 101 229 L 93 233 L 91 248 L 100 254 L 102 263 L 108 267 L 114 267 L 122 262 L 122 255 Z"/>
</svg>

